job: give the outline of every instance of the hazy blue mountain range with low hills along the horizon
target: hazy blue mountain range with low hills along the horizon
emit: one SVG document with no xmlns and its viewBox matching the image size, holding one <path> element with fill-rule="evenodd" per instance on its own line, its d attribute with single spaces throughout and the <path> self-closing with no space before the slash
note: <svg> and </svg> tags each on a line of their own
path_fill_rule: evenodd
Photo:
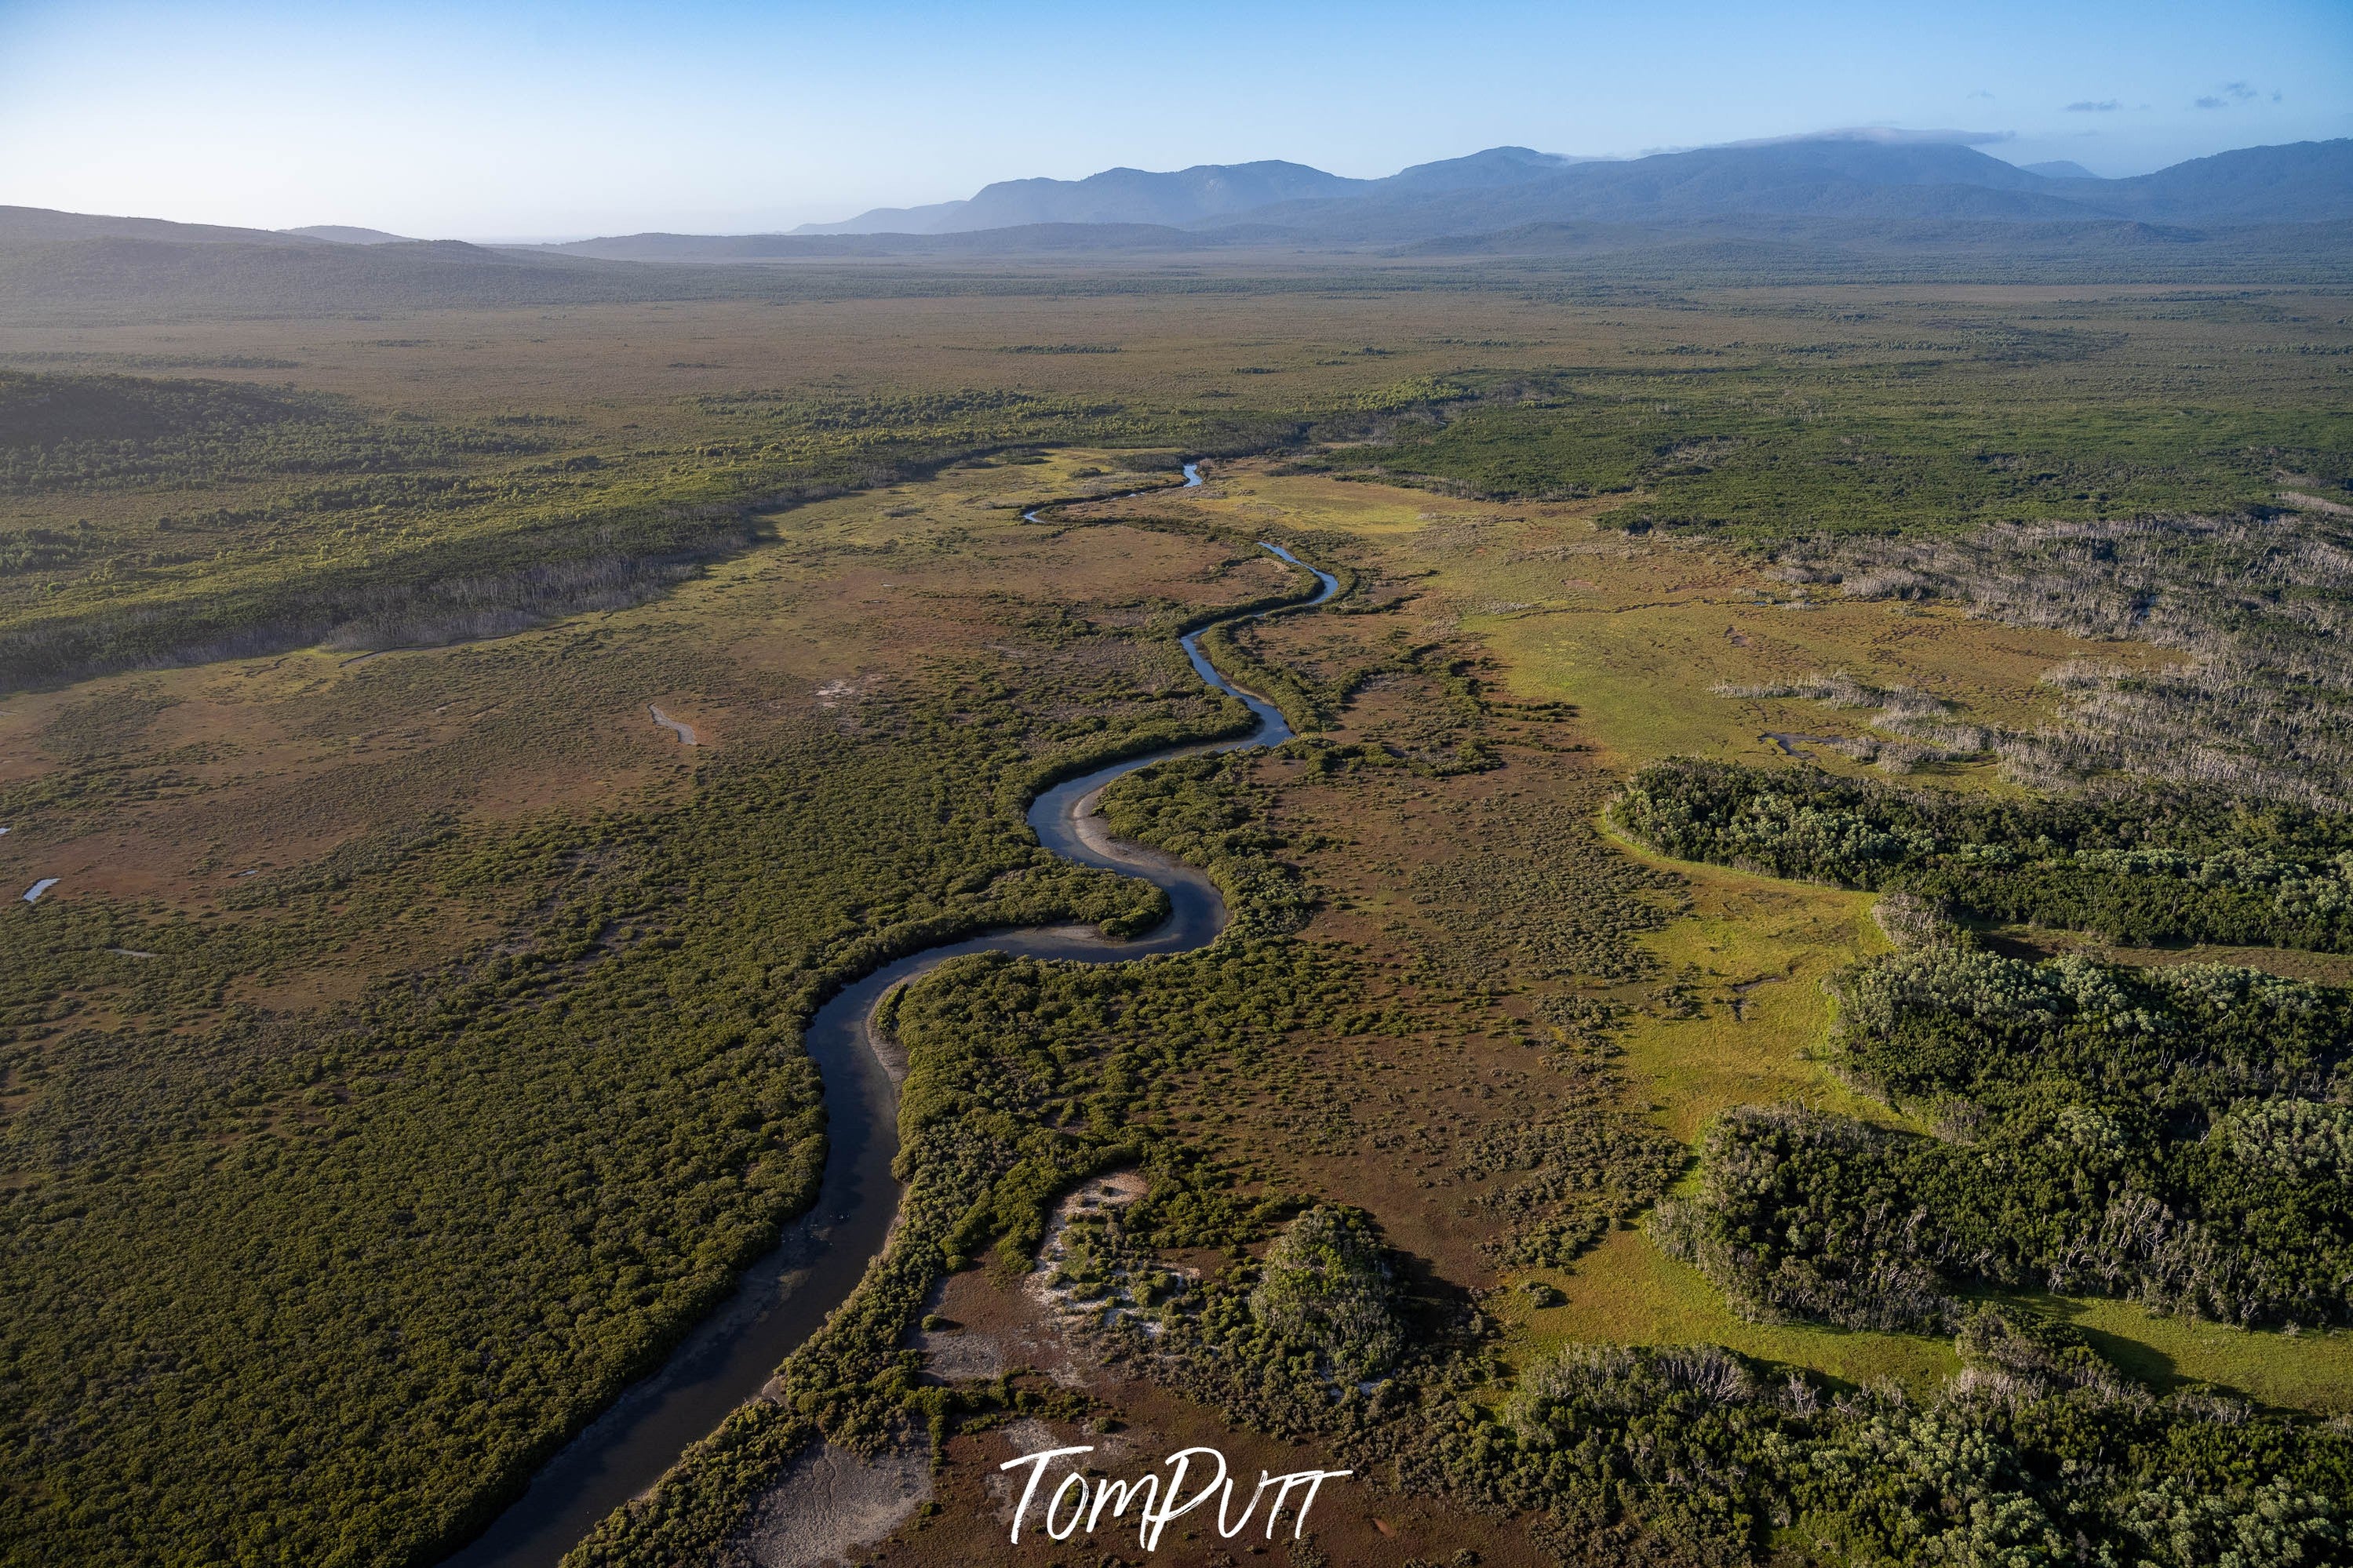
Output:
<svg viewBox="0 0 2353 1568">
<path fill-rule="evenodd" d="M 2353 141 L 2242 148 L 2099 179 L 1920 136 L 1831 134 L 1628 160 L 1529 148 L 1344 179 L 1198 165 L 1024 179 L 791 235 L 572 244 L 374 228 L 165 223 L 0 207 L 0 315 L 148 320 L 473 303 L 760 296 L 861 259 L 1252 252 L 1562 256 L 1628 275 L 2353 277 Z M 696 263 L 696 266 L 671 266 Z M 736 266 L 727 266 L 736 263 Z"/>
</svg>

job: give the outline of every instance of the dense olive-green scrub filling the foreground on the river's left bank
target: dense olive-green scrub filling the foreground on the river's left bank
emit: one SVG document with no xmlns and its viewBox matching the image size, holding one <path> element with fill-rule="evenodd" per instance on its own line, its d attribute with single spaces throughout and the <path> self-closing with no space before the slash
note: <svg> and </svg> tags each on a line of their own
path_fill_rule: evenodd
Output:
<svg viewBox="0 0 2353 1568">
<path fill-rule="evenodd" d="M 748 745 L 673 809 L 254 879 L 226 931 L 12 919 L 9 1552 L 431 1554 L 645 1371 L 814 1192 L 784 1020 L 941 931 L 1129 912 L 1007 832 L 1024 748 L 941 708 L 878 715 L 934 766 Z M 433 896 L 511 924 L 325 1016 L 224 1006 L 254 947 Z"/>
</svg>

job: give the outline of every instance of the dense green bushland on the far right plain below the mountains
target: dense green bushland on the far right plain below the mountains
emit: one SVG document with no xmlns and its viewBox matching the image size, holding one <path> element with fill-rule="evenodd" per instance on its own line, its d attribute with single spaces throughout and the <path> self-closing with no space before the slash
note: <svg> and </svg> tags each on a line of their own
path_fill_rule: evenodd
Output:
<svg viewBox="0 0 2353 1568">
<path fill-rule="evenodd" d="M 1315 465 L 1494 498 L 1614 494 L 1619 527 L 1760 543 L 2235 512 L 2271 503 L 2280 473 L 2329 494 L 2353 480 L 2322 393 L 2348 348 L 2334 301 L 1955 306 L 1821 301 L 1814 331 L 1758 320 L 1755 339 L 1729 336 L 1746 310 L 1718 306 L 1692 341 L 1532 374 L 1497 407 Z M 2235 339 L 2228 381 L 2177 360 L 2214 331 Z"/>
</svg>

